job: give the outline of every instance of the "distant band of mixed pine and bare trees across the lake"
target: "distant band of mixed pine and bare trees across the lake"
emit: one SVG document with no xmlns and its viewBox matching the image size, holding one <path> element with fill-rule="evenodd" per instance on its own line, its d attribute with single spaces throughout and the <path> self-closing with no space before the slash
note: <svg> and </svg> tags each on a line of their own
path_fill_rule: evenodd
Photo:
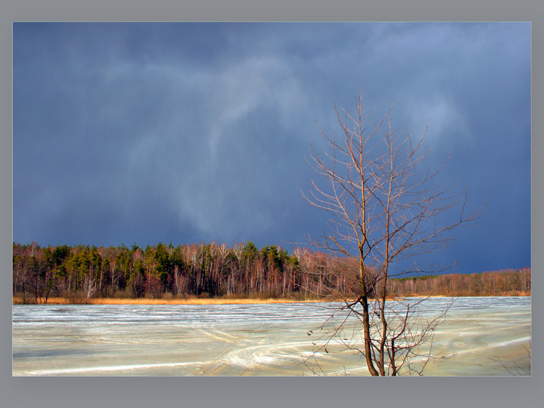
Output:
<svg viewBox="0 0 544 408">
<path fill-rule="evenodd" d="M 339 256 L 281 246 L 258 249 L 215 242 L 96 247 L 13 244 L 12 293 L 22 302 L 84 298 L 295 298 L 350 293 L 357 264 Z M 531 270 L 391 279 L 403 295 L 505 295 L 531 291 Z"/>
</svg>

